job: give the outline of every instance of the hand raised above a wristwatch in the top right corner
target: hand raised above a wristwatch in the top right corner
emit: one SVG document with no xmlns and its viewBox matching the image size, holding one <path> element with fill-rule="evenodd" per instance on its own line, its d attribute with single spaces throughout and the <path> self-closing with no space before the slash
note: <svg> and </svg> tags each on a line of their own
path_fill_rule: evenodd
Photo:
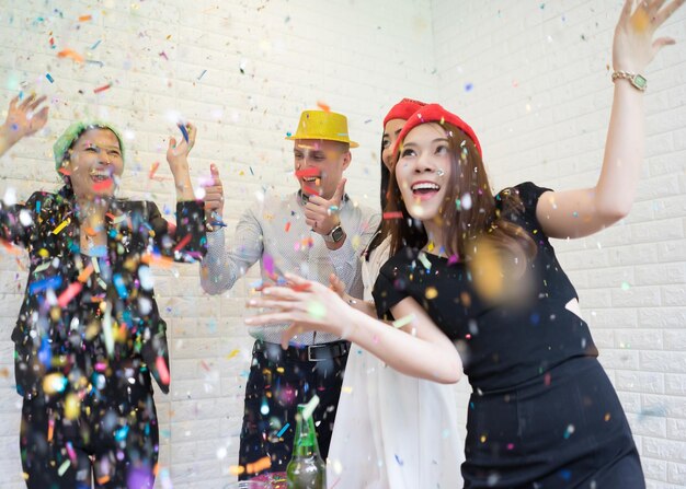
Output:
<svg viewBox="0 0 686 489">
<path fill-rule="evenodd" d="M 641 73 L 663 46 L 675 44 L 672 37 L 653 39 L 653 35 L 685 2 L 686 0 L 642 0 L 633 9 L 636 1 L 626 0 L 615 28 L 615 71 Z"/>
</svg>

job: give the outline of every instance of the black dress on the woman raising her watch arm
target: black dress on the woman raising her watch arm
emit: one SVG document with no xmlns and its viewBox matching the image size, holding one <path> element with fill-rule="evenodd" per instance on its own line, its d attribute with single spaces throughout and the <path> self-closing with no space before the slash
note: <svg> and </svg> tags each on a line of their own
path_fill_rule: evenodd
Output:
<svg viewBox="0 0 686 489">
<path fill-rule="evenodd" d="M 514 190 L 525 209 L 507 219 L 538 245 L 528 266 L 531 301 L 493 307 L 462 263 L 404 248 L 381 268 L 377 313 L 392 318 L 390 307 L 411 296 L 456 342 L 473 391 L 466 488 L 644 488 L 629 424 L 588 326 L 565 307 L 576 292 L 536 219 L 548 189 L 524 183 Z"/>
</svg>

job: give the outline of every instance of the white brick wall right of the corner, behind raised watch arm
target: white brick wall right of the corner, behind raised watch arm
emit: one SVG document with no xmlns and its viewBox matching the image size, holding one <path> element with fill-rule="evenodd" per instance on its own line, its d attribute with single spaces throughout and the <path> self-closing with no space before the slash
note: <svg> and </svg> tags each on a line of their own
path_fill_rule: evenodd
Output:
<svg viewBox="0 0 686 489">
<path fill-rule="evenodd" d="M 621 3 L 432 1 L 437 98 L 479 135 L 494 187 L 594 184 Z M 661 489 L 686 487 L 685 20 L 682 9 L 662 30 L 679 44 L 647 72 L 648 158 L 631 214 L 585 240 L 554 243 L 649 487 Z"/>
</svg>

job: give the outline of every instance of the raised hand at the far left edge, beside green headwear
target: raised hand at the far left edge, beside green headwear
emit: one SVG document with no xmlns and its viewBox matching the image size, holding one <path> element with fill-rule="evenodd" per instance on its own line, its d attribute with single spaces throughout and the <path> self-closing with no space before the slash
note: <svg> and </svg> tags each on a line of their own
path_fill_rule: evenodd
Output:
<svg viewBox="0 0 686 489">
<path fill-rule="evenodd" d="M 0 155 L 20 139 L 34 135 L 45 127 L 49 107 L 37 109 L 46 98 L 45 95 L 36 97 L 35 94 L 28 95 L 21 103 L 19 96 L 12 98 L 8 117 L 0 127 Z"/>
</svg>

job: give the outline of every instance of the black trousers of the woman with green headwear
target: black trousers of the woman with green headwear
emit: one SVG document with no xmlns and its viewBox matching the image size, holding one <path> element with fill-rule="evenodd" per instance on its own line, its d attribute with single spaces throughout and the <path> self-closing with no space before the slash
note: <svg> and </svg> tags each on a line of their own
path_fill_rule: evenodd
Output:
<svg viewBox="0 0 686 489">
<path fill-rule="evenodd" d="M 117 371 L 101 382 L 24 398 L 20 450 L 28 489 L 91 489 L 91 480 L 96 489 L 152 489 L 159 431 L 150 373 L 127 379 Z"/>
</svg>

